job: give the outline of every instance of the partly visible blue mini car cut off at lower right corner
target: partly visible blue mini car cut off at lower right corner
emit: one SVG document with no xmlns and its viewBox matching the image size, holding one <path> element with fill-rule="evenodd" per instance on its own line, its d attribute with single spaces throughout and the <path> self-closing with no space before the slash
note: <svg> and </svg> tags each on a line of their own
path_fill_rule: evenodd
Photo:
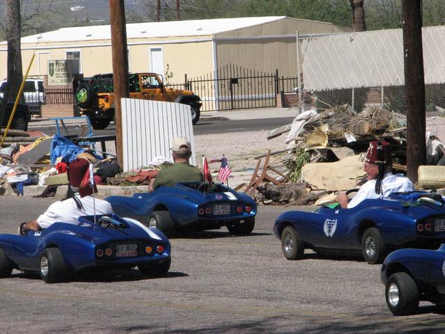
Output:
<svg viewBox="0 0 445 334">
<path fill-rule="evenodd" d="M 389 254 L 381 278 L 389 310 L 412 315 L 419 301 L 445 304 L 445 244 L 437 250 L 405 248 Z"/>
</svg>

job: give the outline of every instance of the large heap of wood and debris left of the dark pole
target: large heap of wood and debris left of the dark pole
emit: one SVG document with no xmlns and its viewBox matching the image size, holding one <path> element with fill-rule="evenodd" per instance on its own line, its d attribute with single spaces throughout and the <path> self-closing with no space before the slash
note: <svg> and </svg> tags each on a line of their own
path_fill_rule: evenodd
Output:
<svg viewBox="0 0 445 334">
<path fill-rule="evenodd" d="M 348 104 L 323 112 L 312 109 L 270 132 L 268 139 L 283 134 L 284 150 L 270 152 L 262 166 L 268 177 L 254 175 L 246 191 L 264 204 L 319 205 L 336 191 L 359 187 L 366 178 L 364 155 L 374 140 L 389 141 L 394 171 L 406 172 L 406 117 L 400 113 L 380 107 L 356 113 Z"/>
</svg>

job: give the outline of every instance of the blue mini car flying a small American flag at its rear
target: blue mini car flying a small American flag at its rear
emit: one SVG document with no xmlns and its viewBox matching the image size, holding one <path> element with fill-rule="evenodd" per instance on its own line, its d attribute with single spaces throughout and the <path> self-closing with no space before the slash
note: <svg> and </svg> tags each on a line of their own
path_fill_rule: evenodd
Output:
<svg viewBox="0 0 445 334">
<path fill-rule="evenodd" d="M 186 230 L 213 230 L 222 226 L 232 234 L 254 229 L 257 205 L 250 196 L 224 184 L 180 182 L 152 193 L 106 198 L 120 216 L 128 216 L 171 237 Z"/>
</svg>

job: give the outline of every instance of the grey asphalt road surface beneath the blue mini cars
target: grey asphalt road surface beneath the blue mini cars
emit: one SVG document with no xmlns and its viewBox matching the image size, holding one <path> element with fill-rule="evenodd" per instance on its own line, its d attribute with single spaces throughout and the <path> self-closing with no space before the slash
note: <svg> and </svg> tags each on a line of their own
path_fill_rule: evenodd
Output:
<svg viewBox="0 0 445 334">
<path fill-rule="evenodd" d="M 52 199 L 0 198 L 0 230 Z M 321 258 L 287 261 L 272 232 L 284 207 L 259 207 L 254 233 L 172 239 L 165 278 L 91 273 L 48 285 L 19 271 L 0 280 L 1 333 L 444 333 L 444 309 L 394 317 L 380 265 Z"/>
</svg>

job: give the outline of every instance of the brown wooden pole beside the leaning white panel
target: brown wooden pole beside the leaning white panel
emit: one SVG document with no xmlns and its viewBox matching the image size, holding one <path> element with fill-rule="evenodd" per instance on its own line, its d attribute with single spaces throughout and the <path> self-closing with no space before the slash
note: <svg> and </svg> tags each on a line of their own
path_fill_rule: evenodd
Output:
<svg viewBox="0 0 445 334">
<path fill-rule="evenodd" d="M 115 97 L 116 155 L 122 165 L 122 112 L 120 99 L 129 97 L 127 28 L 125 5 L 121 0 L 109 0 L 111 26 L 111 56 L 113 58 L 113 85 Z"/>
</svg>

